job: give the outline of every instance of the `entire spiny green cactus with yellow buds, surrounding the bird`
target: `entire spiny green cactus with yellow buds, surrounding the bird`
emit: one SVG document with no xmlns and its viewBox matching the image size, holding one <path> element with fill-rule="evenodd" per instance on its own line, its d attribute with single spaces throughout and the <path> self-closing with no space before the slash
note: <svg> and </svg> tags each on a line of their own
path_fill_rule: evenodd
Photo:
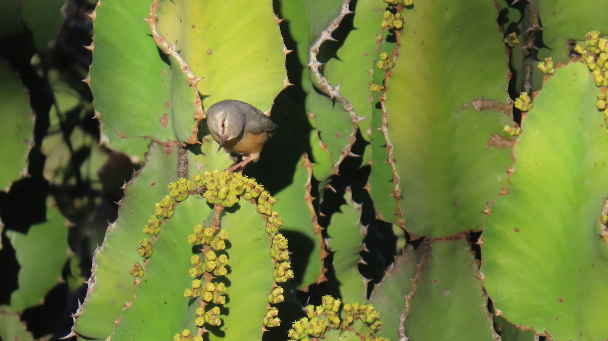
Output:
<svg viewBox="0 0 608 341">
<path fill-rule="evenodd" d="M 103 147 L 142 163 L 69 336 L 608 338 L 604 14 L 594 0 L 260 0 L 245 12 L 100 0 L 85 83 Z M 29 112 L 2 75 L 2 105 Z M 61 130 L 65 110 L 89 106 L 48 79 Z M 204 121 L 229 98 L 279 126 L 243 174 L 225 170 L 238 158 L 216 152 Z M 21 150 L 0 198 L 18 191 L 40 141 L 51 187 L 105 158 L 83 129 L 46 135 L 34 147 L 7 141 Z M 90 150 L 86 162 L 64 163 L 74 150 Z M 59 265 L 77 263 L 58 253 L 66 229 L 52 202 L 66 217 L 77 204 L 40 197 L 48 221 L 30 234 L 52 225 L 57 254 L 2 302 L 0 323 L 13 326 L 3 338 L 39 337 L 19 317 Z M 7 226 L 2 242 L 26 265 L 33 242 Z"/>
</svg>

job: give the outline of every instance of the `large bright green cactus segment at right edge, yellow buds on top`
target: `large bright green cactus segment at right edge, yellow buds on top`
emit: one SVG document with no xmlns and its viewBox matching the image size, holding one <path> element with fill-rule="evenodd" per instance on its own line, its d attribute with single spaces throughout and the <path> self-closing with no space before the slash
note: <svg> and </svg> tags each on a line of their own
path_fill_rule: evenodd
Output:
<svg viewBox="0 0 608 341">
<path fill-rule="evenodd" d="M 483 283 L 496 309 L 553 340 L 608 338 L 608 249 L 598 237 L 608 144 L 598 93 L 583 63 L 544 84 L 522 123 L 509 194 L 491 206 L 482 236 Z"/>
</svg>

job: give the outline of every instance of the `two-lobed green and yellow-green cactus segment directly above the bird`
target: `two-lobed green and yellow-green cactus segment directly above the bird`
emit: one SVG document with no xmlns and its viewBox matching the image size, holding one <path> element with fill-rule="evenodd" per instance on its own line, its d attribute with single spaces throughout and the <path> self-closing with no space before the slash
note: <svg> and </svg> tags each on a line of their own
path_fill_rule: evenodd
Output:
<svg viewBox="0 0 608 341">
<path fill-rule="evenodd" d="M 233 98 L 263 111 L 270 109 L 286 78 L 283 42 L 270 1 L 250 7 L 236 21 L 223 2 L 186 6 L 161 1 L 156 24 L 159 39 L 176 42 L 185 64 L 174 55 L 168 57 L 168 64 L 161 58 L 169 51 L 159 52 L 150 25 L 140 19 L 148 18 L 149 8 L 149 1 L 128 6 L 106 1 L 95 10 L 91 89 L 112 146 L 117 136 L 193 142 L 189 138 L 195 127 L 198 93 L 182 71 L 186 64 L 193 77 L 204 78 L 198 83 L 198 90 L 209 97 L 204 107 Z M 214 33 L 218 31 L 223 34 Z M 219 38 L 226 36 L 239 39 Z M 140 146 L 119 146 L 141 152 Z"/>
</svg>

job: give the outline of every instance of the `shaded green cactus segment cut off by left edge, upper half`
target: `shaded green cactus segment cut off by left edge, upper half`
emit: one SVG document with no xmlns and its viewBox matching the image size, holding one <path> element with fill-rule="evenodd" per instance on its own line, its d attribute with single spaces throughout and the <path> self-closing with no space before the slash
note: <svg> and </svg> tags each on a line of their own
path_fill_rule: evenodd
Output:
<svg viewBox="0 0 608 341">
<path fill-rule="evenodd" d="M 34 123 L 21 80 L 3 63 L 0 63 L 0 103 L 6 113 L 0 124 L 2 148 L 11 151 L 3 155 L 0 167 L 0 188 L 5 188 L 18 180 L 19 173 L 26 169 Z"/>
</svg>

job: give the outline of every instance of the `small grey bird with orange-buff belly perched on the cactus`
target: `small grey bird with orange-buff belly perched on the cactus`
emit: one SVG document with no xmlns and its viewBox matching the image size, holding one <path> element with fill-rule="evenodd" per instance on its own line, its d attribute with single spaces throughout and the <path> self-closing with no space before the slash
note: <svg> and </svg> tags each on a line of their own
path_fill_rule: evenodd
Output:
<svg viewBox="0 0 608 341">
<path fill-rule="evenodd" d="M 243 155 L 243 161 L 230 170 L 243 169 L 260 158 L 264 143 L 277 125 L 256 107 L 238 100 L 219 101 L 207 109 L 207 127 L 217 143 L 218 152 L 224 148 Z"/>
</svg>

